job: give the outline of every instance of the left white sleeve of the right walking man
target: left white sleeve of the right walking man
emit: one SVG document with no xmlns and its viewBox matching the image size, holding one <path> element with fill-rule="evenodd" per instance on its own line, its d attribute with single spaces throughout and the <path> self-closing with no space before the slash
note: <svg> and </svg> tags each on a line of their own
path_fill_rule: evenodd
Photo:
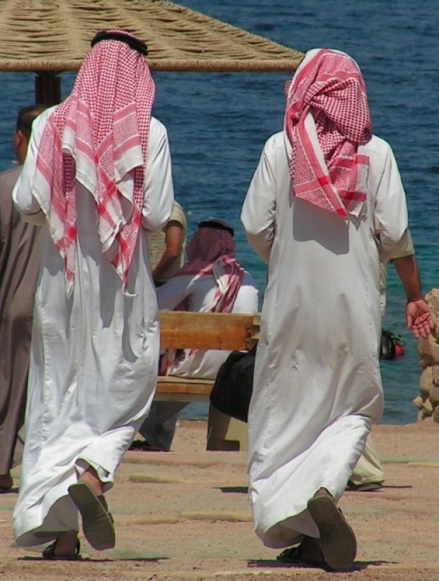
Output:
<svg viewBox="0 0 439 581">
<path fill-rule="evenodd" d="M 273 145 L 272 139 L 265 144 L 241 211 L 241 222 L 247 240 L 265 262 L 270 259 L 272 241 L 275 238 L 276 187 Z"/>
</svg>

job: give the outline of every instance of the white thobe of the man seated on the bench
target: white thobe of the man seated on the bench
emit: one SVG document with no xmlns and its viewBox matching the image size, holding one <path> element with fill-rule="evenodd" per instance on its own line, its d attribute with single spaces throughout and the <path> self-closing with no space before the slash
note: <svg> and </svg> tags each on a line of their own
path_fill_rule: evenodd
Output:
<svg viewBox="0 0 439 581">
<path fill-rule="evenodd" d="M 213 275 L 173 276 L 157 289 L 157 301 L 160 310 L 172 310 L 181 301 L 187 300 L 187 310 L 204 312 L 212 304 L 216 289 L 217 282 Z M 231 312 L 249 314 L 258 312 L 258 299 L 256 282 L 251 274 L 244 271 Z M 219 366 L 224 363 L 229 353 L 218 349 L 198 349 L 196 352 L 185 349 L 183 359 L 175 361 L 168 375 L 215 379 Z"/>
</svg>

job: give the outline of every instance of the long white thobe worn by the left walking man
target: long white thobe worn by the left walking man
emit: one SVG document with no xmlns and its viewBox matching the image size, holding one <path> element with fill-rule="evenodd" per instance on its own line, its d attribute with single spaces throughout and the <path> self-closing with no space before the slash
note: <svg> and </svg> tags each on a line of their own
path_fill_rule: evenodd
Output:
<svg viewBox="0 0 439 581">
<path fill-rule="evenodd" d="M 35 221 L 31 193 L 36 156 L 50 110 L 33 124 L 28 156 L 13 198 Z M 77 530 L 68 487 L 88 466 L 108 490 L 123 453 L 148 413 L 157 378 L 159 325 L 148 260 L 147 232 L 171 214 L 174 188 L 167 131 L 151 119 L 142 227 L 132 257 L 128 293 L 97 232 L 96 205 L 77 182 L 75 286 L 66 299 L 64 262 L 45 225 L 36 290 L 26 444 L 14 511 L 19 545 Z M 132 180 L 125 188 L 132 188 Z M 40 213 L 41 215 L 41 213 Z M 43 216 L 44 218 L 44 216 Z M 43 220 L 44 221 L 44 220 Z"/>
</svg>

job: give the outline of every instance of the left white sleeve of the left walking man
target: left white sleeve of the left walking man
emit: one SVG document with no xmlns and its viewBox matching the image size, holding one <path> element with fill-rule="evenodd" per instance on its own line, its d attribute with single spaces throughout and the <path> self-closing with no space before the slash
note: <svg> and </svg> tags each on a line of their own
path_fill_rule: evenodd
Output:
<svg viewBox="0 0 439 581">
<path fill-rule="evenodd" d="M 17 210 L 22 214 L 26 222 L 34 225 L 43 225 L 45 215 L 40 208 L 35 197 L 32 195 L 33 176 L 36 170 L 36 160 L 41 137 L 46 125 L 47 117 L 52 112 L 51 109 L 45 110 L 32 123 L 31 139 L 27 148 L 26 159 L 22 167 L 22 173 L 15 183 L 12 197 Z"/>
</svg>

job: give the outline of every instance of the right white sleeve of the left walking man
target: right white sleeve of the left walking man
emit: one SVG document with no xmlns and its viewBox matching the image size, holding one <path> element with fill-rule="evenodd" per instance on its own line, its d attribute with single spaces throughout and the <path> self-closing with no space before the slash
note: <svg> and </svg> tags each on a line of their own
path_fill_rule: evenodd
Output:
<svg viewBox="0 0 439 581">
<path fill-rule="evenodd" d="M 158 131 L 156 124 L 159 124 Z M 171 172 L 171 153 L 167 131 L 156 119 L 151 119 L 148 159 L 144 183 L 142 226 L 149 232 L 162 229 L 174 206 L 174 184 Z"/>
</svg>

